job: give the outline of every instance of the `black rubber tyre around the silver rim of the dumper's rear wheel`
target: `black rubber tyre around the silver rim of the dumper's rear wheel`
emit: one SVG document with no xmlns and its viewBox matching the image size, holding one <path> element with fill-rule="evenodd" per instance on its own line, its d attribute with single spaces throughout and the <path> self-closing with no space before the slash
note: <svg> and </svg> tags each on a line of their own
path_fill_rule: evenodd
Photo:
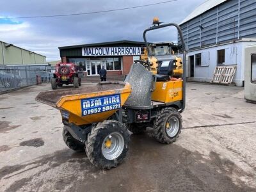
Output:
<svg viewBox="0 0 256 192">
<path fill-rule="evenodd" d="M 167 115 L 170 115 L 170 113 L 177 115 L 180 119 L 180 131 L 172 139 L 170 139 L 170 138 L 168 138 L 168 136 L 166 136 L 166 133 L 164 132 L 165 128 L 163 128 L 164 122 L 166 121 L 165 117 Z M 171 107 L 162 108 L 160 111 L 158 111 L 157 117 L 154 120 L 153 128 L 154 128 L 154 138 L 156 138 L 157 141 L 159 141 L 161 143 L 166 143 L 166 144 L 175 142 L 177 140 L 177 138 L 179 138 L 179 134 L 182 129 L 182 118 L 181 118 L 179 111 L 177 111 L 177 109 L 171 108 Z"/>
</svg>

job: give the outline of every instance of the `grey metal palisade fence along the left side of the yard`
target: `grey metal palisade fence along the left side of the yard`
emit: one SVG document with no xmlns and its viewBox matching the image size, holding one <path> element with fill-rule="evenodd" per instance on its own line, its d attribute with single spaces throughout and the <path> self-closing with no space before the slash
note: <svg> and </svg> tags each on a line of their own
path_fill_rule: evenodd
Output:
<svg viewBox="0 0 256 192">
<path fill-rule="evenodd" d="M 0 93 L 36 84 L 38 77 L 41 77 L 42 82 L 51 82 L 52 67 L 47 65 L 0 65 Z"/>
</svg>

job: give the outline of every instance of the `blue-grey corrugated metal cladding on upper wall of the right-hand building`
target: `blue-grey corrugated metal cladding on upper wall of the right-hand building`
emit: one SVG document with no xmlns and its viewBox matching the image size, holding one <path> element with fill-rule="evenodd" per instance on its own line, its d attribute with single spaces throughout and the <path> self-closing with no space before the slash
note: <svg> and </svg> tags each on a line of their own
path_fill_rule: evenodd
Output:
<svg viewBox="0 0 256 192">
<path fill-rule="evenodd" d="M 256 38 L 255 10 L 255 0 L 230 0 L 180 25 L 187 48 L 193 50 L 237 38 Z"/>
</svg>

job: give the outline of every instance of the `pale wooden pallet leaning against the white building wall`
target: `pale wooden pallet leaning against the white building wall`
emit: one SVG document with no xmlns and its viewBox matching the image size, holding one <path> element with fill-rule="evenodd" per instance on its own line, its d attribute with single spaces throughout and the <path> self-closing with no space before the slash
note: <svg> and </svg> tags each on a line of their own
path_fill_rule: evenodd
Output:
<svg viewBox="0 0 256 192">
<path fill-rule="evenodd" d="M 211 83 L 231 84 L 236 74 L 237 65 L 216 66 Z"/>
</svg>

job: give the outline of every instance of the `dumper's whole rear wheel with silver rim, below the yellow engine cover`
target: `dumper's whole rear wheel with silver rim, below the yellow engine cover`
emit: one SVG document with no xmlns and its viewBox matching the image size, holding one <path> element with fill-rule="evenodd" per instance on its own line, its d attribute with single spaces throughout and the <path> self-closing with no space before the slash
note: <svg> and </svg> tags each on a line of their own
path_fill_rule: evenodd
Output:
<svg viewBox="0 0 256 192">
<path fill-rule="evenodd" d="M 162 108 L 157 111 L 157 117 L 154 120 L 153 134 L 154 138 L 160 143 L 173 143 L 179 138 L 182 129 L 182 118 L 175 108 Z"/>
</svg>

